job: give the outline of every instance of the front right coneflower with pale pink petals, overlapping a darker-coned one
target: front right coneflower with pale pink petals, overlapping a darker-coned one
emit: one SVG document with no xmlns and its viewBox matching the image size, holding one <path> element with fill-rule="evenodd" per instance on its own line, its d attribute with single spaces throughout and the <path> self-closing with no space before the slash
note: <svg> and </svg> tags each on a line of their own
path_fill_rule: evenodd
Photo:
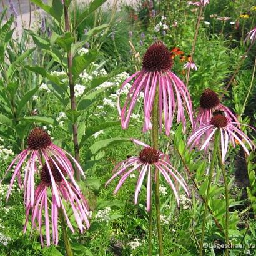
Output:
<svg viewBox="0 0 256 256">
<path fill-rule="evenodd" d="M 195 145 L 199 145 L 200 150 L 207 149 L 210 144 L 210 140 L 214 137 L 215 132 L 220 130 L 220 145 L 221 145 L 221 154 L 222 154 L 222 162 L 225 162 L 225 156 L 227 154 L 227 150 L 229 149 L 229 144 L 235 147 L 236 143 L 240 144 L 242 148 L 245 150 L 246 154 L 249 155 L 249 150 L 246 145 L 253 148 L 252 140 L 247 137 L 247 135 L 242 132 L 239 128 L 237 128 L 237 124 L 241 126 L 242 124 L 237 122 L 229 122 L 227 117 L 223 114 L 215 114 L 205 125 L 200 126 L 198 129 L 194 130 L 189 137 L 187 144 L 190 146 L 190 149 Z M 204 137 L 204 141 L 202 145 L 200 145 L 200 140 Z M 244 140 L 244 142 L 243 142 Z"/>
</svg>

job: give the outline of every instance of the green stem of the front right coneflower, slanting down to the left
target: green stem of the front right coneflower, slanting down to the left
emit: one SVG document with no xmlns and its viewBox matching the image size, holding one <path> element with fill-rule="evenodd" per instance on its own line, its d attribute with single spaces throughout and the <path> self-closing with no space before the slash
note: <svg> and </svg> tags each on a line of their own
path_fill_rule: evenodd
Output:
<svg viewBox="0 0 256 256">
<path fill-rule="evenodd" d="M 208 177 L 208 185 L 207 185 L 207 193 L 205 198 L 205 205 L 204 205 L 204 217 L 202 222 L 202 234 L 201 234 L 201 240 L 200 240 L 200 249 L 199 249 L 199 255 L 202 256 L 203 252 L 203 243 L 204 243 L 204 231 L 205 231 L 205 220 L 207 215 L 207 208 L 208 208 L 208 202 L 209 202 L 209 195 L 210 195 L 210 184 L 212 182 L 212 174 L 214 172 L 214 162 L 217 156 L 217 149 L 219 145 L 219 137 L 220 132 L 217 130 L 215 137 L 214 137 L 214 152 L 212 153 L 212 161 L 210 162 L 210 173 Z"/>
</svg>

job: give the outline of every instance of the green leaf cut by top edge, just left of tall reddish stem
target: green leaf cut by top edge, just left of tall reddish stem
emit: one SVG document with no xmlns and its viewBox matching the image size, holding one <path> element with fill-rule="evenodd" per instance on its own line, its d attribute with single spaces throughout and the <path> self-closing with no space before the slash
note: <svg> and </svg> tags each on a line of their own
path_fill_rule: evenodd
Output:
<svg viewBox="0 0 256 256">
<path fill-rule="evenodd" d="M 57 19 L 57 21 L 61 22 L 61 16 L 63 14 L 63 4 L 61 0 L 52 0 L 52 6 L 44 4 L 41 0 L 31 0 L 31 2 L 41 7 L 41 9 L 54 17 L 54 19 Z"/>
</svg>

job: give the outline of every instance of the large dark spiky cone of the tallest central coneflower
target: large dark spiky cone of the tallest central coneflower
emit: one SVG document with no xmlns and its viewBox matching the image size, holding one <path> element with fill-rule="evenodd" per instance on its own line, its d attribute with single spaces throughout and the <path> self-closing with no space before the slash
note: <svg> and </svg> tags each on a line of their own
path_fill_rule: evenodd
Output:
<svg viewBox="0 0 256 256">
<path fill-rule="evenodd" d="M 173 61 L 169 49 L 162 41 L 156 41 L 145 52 L 142 68 L 149 72 L 165 72 L 172 69 L 172 64 Z"/>
</svg>

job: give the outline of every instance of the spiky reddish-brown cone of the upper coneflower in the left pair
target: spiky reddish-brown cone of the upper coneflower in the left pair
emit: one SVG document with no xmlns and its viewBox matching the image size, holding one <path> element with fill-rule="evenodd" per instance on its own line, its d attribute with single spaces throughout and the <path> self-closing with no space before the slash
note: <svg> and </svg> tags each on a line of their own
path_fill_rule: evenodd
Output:
<svg viewBox="0 0 256 256">
<path fill-rule="evenodd" d="M 45 149 L 51 145 L 51 137 L 41 128 L 35 128 L 30 132 L 29 137 L 27 138 L 27 145 L 29 149 Z"/>
</svg>

